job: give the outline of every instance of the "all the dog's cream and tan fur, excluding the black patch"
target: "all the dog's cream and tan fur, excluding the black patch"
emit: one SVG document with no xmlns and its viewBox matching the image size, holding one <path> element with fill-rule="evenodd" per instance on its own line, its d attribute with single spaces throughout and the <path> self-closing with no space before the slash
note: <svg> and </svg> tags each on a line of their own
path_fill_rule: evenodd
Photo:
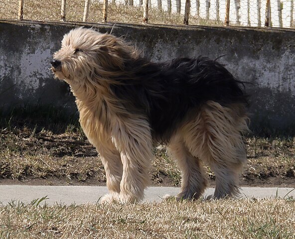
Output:
<svg viewBox="0 0 295 239">
<path fill-rule="evenodd" d="M 110 77 L 124 70 L 124 58 L 137 56 L 119 38 L 85 28 L 66 34 L 54 54 L 62 65 L 52 71 L 70 85 L 81 126 L 106 170 L 109 194 L 102 202 L 139 202 L 149 185 L 153 155 L 148 119 L 131 115 L 109 90 L 110 84 L 116 84 Z M 202 161 L 216 175 L 214 197 L 237 195 L 238 176 L 246 161 L 241 136 L 248 129 L 246 120 L 239 115 L 239 106 L 225 108 L 209 101 L 179 127 L 168 145 L 182 171 L 177 199 L 199 198 L 204 192 Z"/>
</svg>

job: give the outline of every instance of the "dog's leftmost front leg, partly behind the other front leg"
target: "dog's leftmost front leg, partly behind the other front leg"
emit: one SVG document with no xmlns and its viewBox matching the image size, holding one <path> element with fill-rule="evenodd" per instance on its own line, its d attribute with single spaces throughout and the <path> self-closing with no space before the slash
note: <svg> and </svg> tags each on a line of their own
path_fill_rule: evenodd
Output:
<svg viewBox="0 0 295 239">
<path fill-rule="evenodd" d="M 106 171 L 107 187 L 110 192 L 101 198 L 101 203 L 118 201 L 123 174 L 121 155 L 111 139 L 97 144 L 96 148 Z"/>
</svg>

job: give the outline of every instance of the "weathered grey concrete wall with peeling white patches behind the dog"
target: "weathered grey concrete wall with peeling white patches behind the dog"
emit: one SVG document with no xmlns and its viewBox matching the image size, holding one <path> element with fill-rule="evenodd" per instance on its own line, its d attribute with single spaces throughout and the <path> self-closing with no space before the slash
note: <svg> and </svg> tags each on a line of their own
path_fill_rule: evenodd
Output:
<svg viewBox="0 0 295 239">
<path fill-rule="evenodd" d="M 74 24 L 0 21 L 0 108 L 53 104 L 75 111 L 68 86 L 48 70 L 52 54 Z M 90 26 L 90 25 L 89 25 Z M 95 24 L 101 32 L 112 25 Z M 295 132 L 295 31 L 116 24 L 153 61 L 198 55 L 219 62 L 247 86 L 251 128 Z"/>
</svg>

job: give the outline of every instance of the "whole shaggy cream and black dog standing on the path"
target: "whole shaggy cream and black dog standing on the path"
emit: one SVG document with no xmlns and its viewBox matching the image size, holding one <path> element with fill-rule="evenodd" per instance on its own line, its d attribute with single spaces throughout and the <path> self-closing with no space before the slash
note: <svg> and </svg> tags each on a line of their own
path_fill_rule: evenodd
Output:
<svg viewBox="0 0 295 239">
<path fill-rule="evenodd" d="M 102 202 L 144 198 L 155 143 L 167 145 L 182 172 L 176 199 L 202 195 L 203 162 L 215 173 L 214 198 L 239 193 L 247 97 L 221 64 L 205 57 L 150 62 L 121 38 L 80 27 L 64 36 L 51 65 L 70 85 L 103 162 L 109 194 Z"/>
</svg>

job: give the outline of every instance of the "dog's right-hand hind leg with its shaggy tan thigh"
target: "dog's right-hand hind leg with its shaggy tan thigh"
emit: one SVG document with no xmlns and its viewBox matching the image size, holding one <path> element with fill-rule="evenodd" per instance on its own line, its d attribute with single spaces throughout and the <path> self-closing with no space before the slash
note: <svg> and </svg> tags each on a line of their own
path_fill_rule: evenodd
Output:
<svg viewBox="0 0 295 239">
<path fill-rule="evenodd" d="M 196 119 L 184 126 L 185 143 L 215 173 L 214 198 L 237 196 L 239 175 L 246 162 L 242 132 L 248 129 L 242 106 L 226 108 L 207 102 Z"/>
</svg>

